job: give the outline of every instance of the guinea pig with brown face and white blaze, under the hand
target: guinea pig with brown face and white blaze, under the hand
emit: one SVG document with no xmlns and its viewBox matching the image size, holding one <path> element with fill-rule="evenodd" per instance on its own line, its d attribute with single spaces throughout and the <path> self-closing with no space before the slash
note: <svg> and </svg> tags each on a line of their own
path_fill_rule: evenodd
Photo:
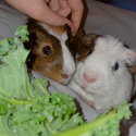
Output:
<svg viewBox="0 0 136 136">
<path fill-rule="evenodd" d="M 32 18 L 27 23 L 29 48 L 27 65 L 32 70 L 67 84 L 75 71 L 75 62 L 69 49 L 69 36 L 65 27 L 49 26 Z"/>
</svg>

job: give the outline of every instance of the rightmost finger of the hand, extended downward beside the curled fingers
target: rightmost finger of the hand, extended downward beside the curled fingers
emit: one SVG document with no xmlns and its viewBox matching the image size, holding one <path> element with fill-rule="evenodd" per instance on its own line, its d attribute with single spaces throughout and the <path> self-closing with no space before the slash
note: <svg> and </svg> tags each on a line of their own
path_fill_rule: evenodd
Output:
<svg viewBox="0 0 136 136">
<path fill-rule="evenodd" d="M 83 16 L 84 5 L 82 0 L 67 0 L 67 4 L 70 5 L 72 10 L 72 22 L 76 28 L 76 30 L 79 27 L 81 20 Z"/>
</svg>

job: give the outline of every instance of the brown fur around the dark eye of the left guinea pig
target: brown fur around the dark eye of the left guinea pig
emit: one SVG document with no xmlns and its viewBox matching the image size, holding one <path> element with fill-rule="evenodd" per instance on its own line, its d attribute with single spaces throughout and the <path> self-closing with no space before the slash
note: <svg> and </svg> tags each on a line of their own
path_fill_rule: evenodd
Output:
<svg viewBox="0 0 136 136">
<path fill-rule="evenodd" d="M 48 34 L 36 21 L 30 21 L 27 25 L 29 42 L 26 47 L 32 50 L 27 62 L 28 67 L 61 83 L 63 59 L 60 41 Z M 48 47 L 49 54 L 44 52 L 45 47 Z"/>
</svg>

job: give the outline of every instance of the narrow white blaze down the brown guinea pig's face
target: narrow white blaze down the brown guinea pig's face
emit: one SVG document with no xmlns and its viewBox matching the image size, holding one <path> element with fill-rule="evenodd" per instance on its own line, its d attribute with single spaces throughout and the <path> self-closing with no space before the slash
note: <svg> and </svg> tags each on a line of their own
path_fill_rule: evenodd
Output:
<svg viewBox="0 0 136 136">
<path fill-rule="evenodd" d="M 63 57 L 63 73 L 70 75 L 69 78 L 63 78 L 62 83 L 67 84 L 71 79 L 73 73 L 75 72 L 75 62 L 74 59 L 69 50 L 69 48 L 65 45 L 65 41 L 67 40 L 67 33 L 64 32 L 63 35 L 59 35 L 55 32 L 53 32 L 48 25 L 39 23 L 50 35 L 57 37 L 62 47 L 62 57 Z"/>
</svg>

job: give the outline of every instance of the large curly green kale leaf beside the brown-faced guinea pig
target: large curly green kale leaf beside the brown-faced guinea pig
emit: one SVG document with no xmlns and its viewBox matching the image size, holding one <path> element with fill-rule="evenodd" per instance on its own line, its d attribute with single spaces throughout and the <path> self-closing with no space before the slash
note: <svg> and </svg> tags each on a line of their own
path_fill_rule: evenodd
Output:
<svg viewBox="0 0 136 136">
<path fill-rule="evenodd" d="M 49 94 L 48 82 L 27 73 L 27 26 L 0 41 L 0 136 L 50 136 L 83 123 L 70 95 Z"/>
</svg>

